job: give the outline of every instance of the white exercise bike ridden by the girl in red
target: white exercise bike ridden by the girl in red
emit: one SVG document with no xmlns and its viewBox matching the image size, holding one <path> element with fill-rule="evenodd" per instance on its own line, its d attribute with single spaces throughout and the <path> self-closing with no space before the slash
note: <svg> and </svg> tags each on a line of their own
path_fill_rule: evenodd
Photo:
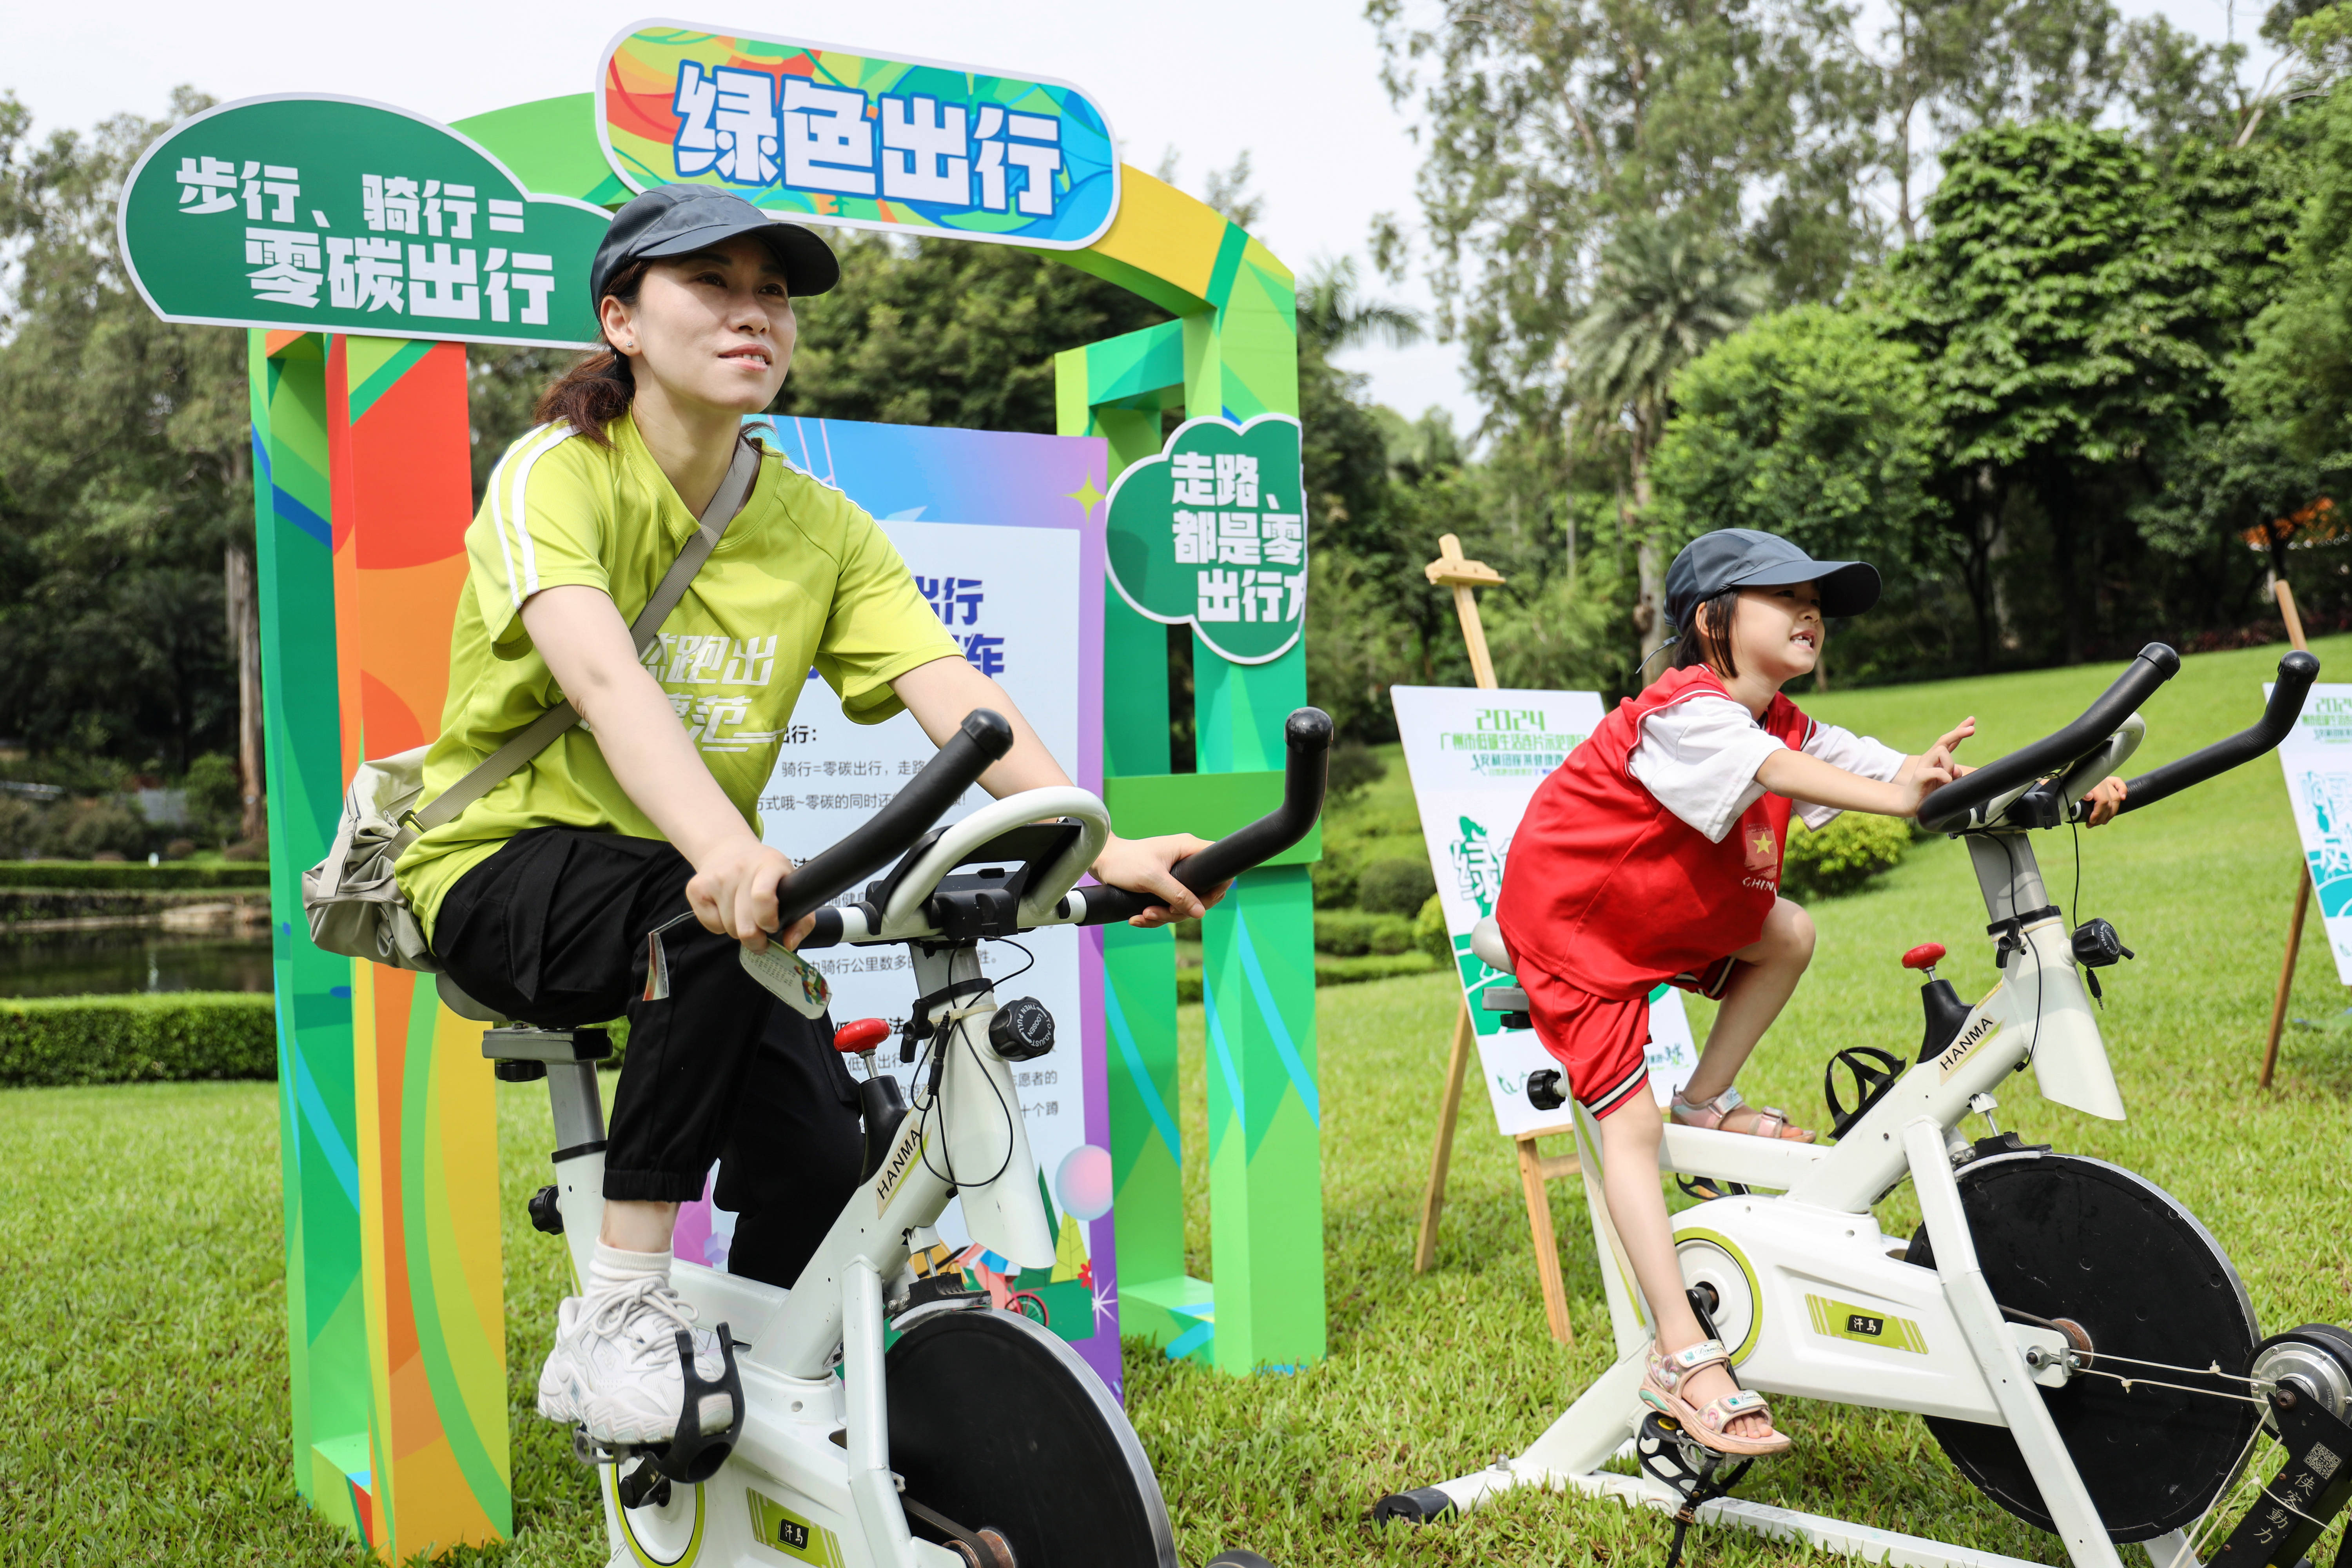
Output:
<svg viewBox="0 0 2352 1568">
<path fill-rule="evenodd" d="M 2119 1563 L 2117 1542 L 2147 1542 L 2157 1568 L 2197 1563 L 2187 1533 L 2267 1429 L 2293 1458 L 2211 1561 L 2291 1566 L 2352 1493 L 2352 1465 L 2336 1462 L 2352 1455 L 2352 1335 L 2310 1324 L 2265 1340 L 2213 1237 L 2131 1171 L 1997 1128 L 1959 1133 L 1971 1112 L 1992 1124 L 1992 1091 L 2027 1063 L 2046 1100 L 2124 1117 L 2091 1011 L 2098 978 L 2084 994 L 2084 973 L 2131 954 L 2103 919 L 2067 929 L 2027 835 L 2082 820 L 2082 797 L 2140 745 L 2136 708 L 2178 668 L 2150 644 L 2079 719 L 1922 802 L 1924 825 L 1969 846 L 2002 978 L 1969 1006 L 1933 978 L 1940 947 L 1905 954 L 1926 969 L 1926 1037 L 1910 1063 L 1867 1046 L 1832 1060 L 1835 1145 L 1668 1126 L 1658 1161 L 1719 1194 L 1675 1215 L 1675 1244 L 1743 1387 L 1924 1415 L 1962 1474 L 2056 1530 L 2079 1566 Z M 2272 750 L 2317 672 L 2310 654 L 2288 654 L 2260 724 L 2131 780 L 2124 809 Z M 1482 938 L 1508 983 L 1510 954 Z M 1484 1006 L 1524 1013 L 1526 999 L 1496 985 Z M 1858 1091 L 1851 1110 L 1839 1067 Z M 1557 1107 L 1557 1077 L 1534 1079 Z M 1578 1488 L 1672 1509 L 1682 1526 L 1703 1516 L 1865 1559 L 2013 1563 L 1726 1497 L 1745 1465 L 1642 1420 L 1651 1328 L 1597 1194 L 1597 1145 L 1581 1121 L 1621 1359 L 1519 1458 L 1385 1497 L 1376 1516 L 1430 1521 L 1519 1486 Z M 1889 1237 L 1872 1206 L 1905 1175 L 1924 1225 Z M 1642 1474 L 1602 1469 L 1621 1453 Z"/>
</svg>

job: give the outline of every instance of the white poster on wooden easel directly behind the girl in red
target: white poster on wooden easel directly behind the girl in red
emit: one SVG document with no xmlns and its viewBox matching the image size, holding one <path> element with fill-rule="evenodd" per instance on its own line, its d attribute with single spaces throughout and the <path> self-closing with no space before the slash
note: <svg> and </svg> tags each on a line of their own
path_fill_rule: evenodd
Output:
<svg viewBox="0 0 2352 1568">
<path fill-rule="evenodd" d="M 1503 976 L 1470 952 L 1470 929 L 1494 914 L 1510 839 L 1519 832 L 1519 816 L 1536 785 L 1602 722 L 1602 701 L 1592 691 L 1388 691 L 1397 705 L 1397 733 L 1404 738 L 1404 766 L 1414 776 L 1437 900 L 1446 912 L 1463 997 L 1477 1025 L 1496 1128 L 1505 1138 L 1559 1128 L 1569 1117 L 1564 1107 L 1536 1110 L 1526 1103 L 1526 1074 L 1559 1063 L 1534 1030 L 1505 1030 L 1501 1013 L 1479 1006 L 1484 990 Z M 1693 1067 L 1698 1051 L 1682 992 L 1661 985 L 1649 997 L 1649 1088 L 1658 1105 L 1691 1081 Z"/>
</svg>

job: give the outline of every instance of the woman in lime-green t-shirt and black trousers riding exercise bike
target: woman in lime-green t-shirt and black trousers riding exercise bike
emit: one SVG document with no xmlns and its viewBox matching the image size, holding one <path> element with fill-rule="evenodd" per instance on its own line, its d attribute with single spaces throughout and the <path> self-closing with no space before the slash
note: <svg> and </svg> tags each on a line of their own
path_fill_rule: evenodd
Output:
<svg viewBox="0 0 2352 1568">
<path fill-rule="evenodd" d="M 981 785 L 1068 783 L 873 517 L 776 454 L 757 454 L 741 510 L 713 517 L 717 545 L 640 661 L 630 618 L 743 473 L 743 416 L 783 388 L 793 301 L 837 280 L 814 230 L 722 190 L 666 186 L 614 214 L 590 268 L 607 348 L 548 388 L 466 531 L 426 795 L 567 698 L 581 722 L 397 863 L 435 959 L 473 999 L 546 1027 L 628 1013 L 602 1234 L 539 1382 L 539 1413 L 600 1443 L 675 1434 L 677 1331 L 696 1373 L 720 1375 L 713 1335 L 670 1288 L 677 1204 L 703 1194 L 710 1164 L 724 1154 L 717 1197 L 741 1211 L 729 1265 L 781 1286 L 858 1178 L 833 1025 L 779 1006 L 736 961 L 739 945 L 809 931 L 776 931 L 793 867 L 755 818 L 807 677 L 851 719 L 906 710 L 938 743 L 993 708 L 1014 745 Z M 1167 905 L 1138 926 L 1200 914 L 1169 875 L 1200 846 L 1112 837 L 1094 875 Z"/>
</svg>

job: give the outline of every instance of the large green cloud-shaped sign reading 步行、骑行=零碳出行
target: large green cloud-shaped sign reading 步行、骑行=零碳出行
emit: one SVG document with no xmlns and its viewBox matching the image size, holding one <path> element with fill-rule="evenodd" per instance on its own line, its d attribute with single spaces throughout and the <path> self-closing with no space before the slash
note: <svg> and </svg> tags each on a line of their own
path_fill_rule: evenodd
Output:
<svg viewBox="0 0 2352 1568">
<path fill-rule="evenodd" d="M 132 169 L 115 221 L 169 322 L 597 341 L 604 209 L 532 195 L 466 136 L 381 103 L 240 99 L 181 120 Z"/>
</svg>

